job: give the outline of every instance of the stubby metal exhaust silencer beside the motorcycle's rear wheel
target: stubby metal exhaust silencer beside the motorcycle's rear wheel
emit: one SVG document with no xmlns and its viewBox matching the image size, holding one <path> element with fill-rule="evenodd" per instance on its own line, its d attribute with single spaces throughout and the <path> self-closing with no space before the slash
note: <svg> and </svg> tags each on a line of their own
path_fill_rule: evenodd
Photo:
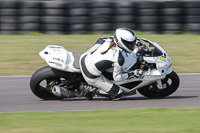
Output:
<svg viewBox="0 0 200 133">
<path fill-rule="evenodd" d="M 77 97 L 74 91 L 69 91 L 69 90 L 65 89 L 64 87 L 60 87 L 58 85 L 55 85 L 53 87 L 52 93 L 55 96 L 64 97 L 64 98 Z"/>
</svg>

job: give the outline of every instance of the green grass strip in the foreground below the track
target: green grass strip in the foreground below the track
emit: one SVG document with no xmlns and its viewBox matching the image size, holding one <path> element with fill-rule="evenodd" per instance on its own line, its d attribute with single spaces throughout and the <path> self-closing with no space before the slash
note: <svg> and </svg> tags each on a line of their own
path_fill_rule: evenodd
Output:
<svg viewBox="0 0 200 133">
<path fill-rule="evenodd" d="M 199 133 L 200 109 L 0 114 L 1 133 Z"/>
</svg>

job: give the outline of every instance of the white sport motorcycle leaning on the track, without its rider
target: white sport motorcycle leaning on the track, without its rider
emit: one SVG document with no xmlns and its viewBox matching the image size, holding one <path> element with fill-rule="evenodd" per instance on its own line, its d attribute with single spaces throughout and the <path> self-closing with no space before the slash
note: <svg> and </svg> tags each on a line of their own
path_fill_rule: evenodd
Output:
<svg viewBox="0 0 200 133">
<path fill-rule="evenodd" d="M 144 43 L 144 42 L 145 43 Z M 174 93 L 180 84 L 176 72 L 170 67 L 172 60 L 165 50 L 157 43 L 142 38 L 137 43 L 137 50 L 131 54 L 123 53 L 125 63 L 123 71 L 139 70 L 140 76 L 115 82 L 112 69 L 103 75 L 122 86 L 123 95 L 130 96 L 139 92 L 148 98 L 164 98 Z M 48 66 L 37 70 L 30 79 L 30 88 L 39 98 L 44 100 L 61 100 L 64 98 L 109 97 L 109 94 L 98 88 L 88 92 L 83 89 L 84 80 L 79 67 L 78 52 L 69 52 L 62 46 L 49 45 L 39 53 Z"/>
</svg>

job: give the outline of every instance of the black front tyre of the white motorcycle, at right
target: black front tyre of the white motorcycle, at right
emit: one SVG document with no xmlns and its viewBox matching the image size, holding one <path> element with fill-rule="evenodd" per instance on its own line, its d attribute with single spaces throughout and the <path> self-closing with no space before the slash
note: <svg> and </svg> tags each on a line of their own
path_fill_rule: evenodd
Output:
<svg viewBox="0 0 200 133">
<path fill-rule="evenodd" d="M 148 98 L 164 98 L 174 93 L 180 84 L 178 75 L 172 71 L 162 79 L 163 89 L 157 87 L 157 82 L 138 89 L 138 92 Z"/>
</svg>

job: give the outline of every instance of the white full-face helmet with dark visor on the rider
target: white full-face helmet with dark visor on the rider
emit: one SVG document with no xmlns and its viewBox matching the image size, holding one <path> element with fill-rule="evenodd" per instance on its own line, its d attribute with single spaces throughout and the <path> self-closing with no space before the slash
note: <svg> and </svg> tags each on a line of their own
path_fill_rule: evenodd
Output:
<svg viewBox="0 0 200 133">
<path fill-rule="evenodd" d="M 136 44 L 136 34 L 129 28 L 118 28 L 114 34 L 114 42 L 125 52 L 131 53 Z"/>
</svg>

